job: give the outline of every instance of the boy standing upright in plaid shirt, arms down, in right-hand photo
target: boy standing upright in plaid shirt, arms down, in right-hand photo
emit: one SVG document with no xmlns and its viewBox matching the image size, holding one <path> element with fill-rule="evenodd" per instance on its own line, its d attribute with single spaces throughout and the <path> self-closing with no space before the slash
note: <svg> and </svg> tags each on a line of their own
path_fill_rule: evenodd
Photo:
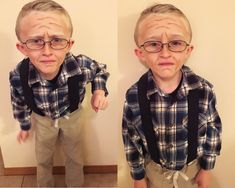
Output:
<svg viewBox="0 0 235 188">
<path fill-rule="evenodd" d="M 187 66 L 186 16 L 170 4 L 145 9 L 135 54 L 149 71 L 126 93 L 122 134 L 134 188 L 206 188 L 221 149 L 212 85 Z"/>
</svg>

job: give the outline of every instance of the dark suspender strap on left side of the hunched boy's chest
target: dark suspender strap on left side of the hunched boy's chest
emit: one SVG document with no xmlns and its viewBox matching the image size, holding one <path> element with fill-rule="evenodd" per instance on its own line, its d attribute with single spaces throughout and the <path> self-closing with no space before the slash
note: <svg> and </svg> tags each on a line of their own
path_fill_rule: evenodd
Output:
<svg viewBox="0 0 235 188">
<path fill-rule="evenodd" d="M 24 59 L 22 61 L 22 64 L 20 65 L 19 71 L 20 71 L 20 81 L 21 81 L 21 85 L 23 88 L 25 103 L 32 111 L 34 111 L 35 113 L 37 113 L 41 116 L 44 116 L 44 113 L 42 113 L 38 109 L 38 107 L 36 106 L 36 104 L 34 102 L 33 90 L 32 90 L 32 88 L 29 87 L 29 84 L 28 84 L 29 58 Z"/>
</svg>

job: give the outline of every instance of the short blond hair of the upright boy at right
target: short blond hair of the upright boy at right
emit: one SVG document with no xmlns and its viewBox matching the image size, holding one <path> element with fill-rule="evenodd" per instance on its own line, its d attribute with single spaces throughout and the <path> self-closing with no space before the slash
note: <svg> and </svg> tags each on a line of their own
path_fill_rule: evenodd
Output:
<svg viewBox="0 0 235 188">
<path fill-rule="evenodd" d="M 185 14 L 180 9 L 176 8 L 174 5 L 171 5 L 171 4 L 154 4 L 146 9 L 144 9 L 140 14 L 139 19 L 137 20 L 137 23 L 135 26 L 135 32 L 134 32 L 134 39 L 135 39 L 135 43 L 137 46 L 138 46 L 138 35 L 139 35 L 138 32 L 139 32 L 140 23 L 150 14 L 165 14 L 165 13 L 174 13 L 174 14 L 182 17 L 188 25 L 190 41 L 192 40 L 191 25 L 189 23 L 188 18 L 185 16 Z"/>
</svg>

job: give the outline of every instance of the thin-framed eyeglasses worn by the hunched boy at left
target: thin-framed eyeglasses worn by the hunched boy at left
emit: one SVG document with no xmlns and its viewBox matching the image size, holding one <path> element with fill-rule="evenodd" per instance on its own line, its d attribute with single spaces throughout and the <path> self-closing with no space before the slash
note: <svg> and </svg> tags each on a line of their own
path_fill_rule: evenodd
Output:
<svg viewBox="0 0 235 188">
<path fill-rule="evenodd" d="M 69 42 L 70 41 L 61 38 L 53 38 L 49 41 L 44 41 L 43 39 L 29 39 L 26 40 L 25 42 L 22 42 L 22 44 L 25 44 L 26 47 L 30 50 L 40 50 L 44 48 L 46 43 L 49 43 L 52 49 L 62 50 L 69 45 Z"/>
</svg>

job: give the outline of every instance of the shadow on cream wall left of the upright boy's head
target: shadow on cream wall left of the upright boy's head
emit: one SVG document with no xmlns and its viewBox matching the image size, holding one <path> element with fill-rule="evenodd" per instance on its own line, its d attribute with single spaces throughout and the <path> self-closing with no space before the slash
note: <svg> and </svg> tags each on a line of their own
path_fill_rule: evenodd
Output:
<svg viewBox="0 0 235 188">
<path fill-rule="evenodd" d="M 118 82 L 118 96 L 123 96 L 120 102 L 123 104 L 127 89 L 134 84 L 147 70 L 135 56 L 134 28 L 138 15 L 119 17 L 118 19 L 118 70 L 120 79 Z"/>
</svg>

